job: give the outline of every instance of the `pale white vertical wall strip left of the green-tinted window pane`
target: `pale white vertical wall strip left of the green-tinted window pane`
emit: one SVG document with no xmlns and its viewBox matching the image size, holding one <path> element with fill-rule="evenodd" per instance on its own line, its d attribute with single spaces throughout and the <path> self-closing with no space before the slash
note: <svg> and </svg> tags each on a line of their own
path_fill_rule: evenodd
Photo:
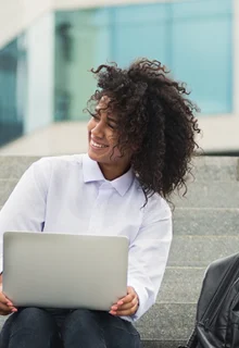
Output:
<svg viewBox="0 0 239 348">
<path fill-rule="evenodd" d="M 45 14 L 26 34 L 27 110 L 25 133 L 45 127 L 54 115 L 54 15 Z"/>
</svg>

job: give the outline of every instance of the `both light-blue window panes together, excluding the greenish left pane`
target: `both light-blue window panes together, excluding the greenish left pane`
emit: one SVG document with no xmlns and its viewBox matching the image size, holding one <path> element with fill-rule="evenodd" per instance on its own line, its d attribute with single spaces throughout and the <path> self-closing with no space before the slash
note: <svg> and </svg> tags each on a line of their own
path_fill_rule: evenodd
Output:
<svg viewBox="0 0 239 348">
<path fill-rule="evenodd" d="M 202 113 L 231 112 L 231 0 L 138 4 L 114 12 L 116 62 L 158 59 L 189 85 Z"/>
</svg>

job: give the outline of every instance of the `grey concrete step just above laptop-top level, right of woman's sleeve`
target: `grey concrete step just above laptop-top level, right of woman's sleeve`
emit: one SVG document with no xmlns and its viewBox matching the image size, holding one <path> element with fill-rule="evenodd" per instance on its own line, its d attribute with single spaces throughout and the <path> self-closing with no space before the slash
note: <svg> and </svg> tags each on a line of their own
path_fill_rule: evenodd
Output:
<svg viewBox="0 0 239 348">
<path fill-rule="evenodd" d="M 237 236 L 239 232 L 239 208 L 176 208 L 173 220 L 175 236 Z"/>
</svg>

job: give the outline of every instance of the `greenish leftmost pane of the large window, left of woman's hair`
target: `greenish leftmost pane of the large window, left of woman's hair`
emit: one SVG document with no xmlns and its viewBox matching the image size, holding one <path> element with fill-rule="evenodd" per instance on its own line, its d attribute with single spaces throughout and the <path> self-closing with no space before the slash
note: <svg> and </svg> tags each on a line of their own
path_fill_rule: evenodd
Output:
<svg viewBox="0 0 239 348">
<path fill-rule="evenodd" d="M 109 11 L 58 12 L 55 25 L 55 120 L 84 120 L 96 89 L 89 72 L 111 59 Z"/>
</svg>

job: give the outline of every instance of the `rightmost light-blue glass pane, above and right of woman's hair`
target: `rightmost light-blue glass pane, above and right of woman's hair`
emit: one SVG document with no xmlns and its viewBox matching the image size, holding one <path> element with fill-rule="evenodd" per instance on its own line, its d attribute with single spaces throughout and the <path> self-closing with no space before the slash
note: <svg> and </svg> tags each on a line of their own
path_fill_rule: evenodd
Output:
<svg viewBox="0 0 239 348">
<path fill-rule="evenodd" d="M 174 76 L 188 83 L 202 113 L 231 112 L 231 1 L 177 3 L 173 15 Z"/>
</svg>

